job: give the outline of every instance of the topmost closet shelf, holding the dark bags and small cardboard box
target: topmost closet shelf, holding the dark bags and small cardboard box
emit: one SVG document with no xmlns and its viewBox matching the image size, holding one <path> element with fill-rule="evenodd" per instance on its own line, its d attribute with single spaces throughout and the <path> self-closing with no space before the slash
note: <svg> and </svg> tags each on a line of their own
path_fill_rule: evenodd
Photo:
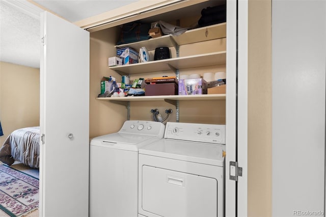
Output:
<svg viewBox="0 0 326 217">
<path fill-rule="evenodd" d="M 179 36 L 164 35 L 144 41 L 128 44 L 116 45 L 116 48 L 131 47 L 139 50 L 146 47 L 147 50 L 154 50 L 156 47 L 172 47 L 176 45 L 191 44 L 226 37 L 226 22 L 204 26 L 193 30 L 188 30 Z"/>
</svg>

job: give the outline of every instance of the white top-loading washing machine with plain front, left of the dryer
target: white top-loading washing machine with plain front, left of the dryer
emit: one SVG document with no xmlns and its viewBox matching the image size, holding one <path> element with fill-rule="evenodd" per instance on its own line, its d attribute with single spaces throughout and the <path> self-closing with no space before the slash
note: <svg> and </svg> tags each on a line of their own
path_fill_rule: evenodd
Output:
<svg viewBox="0 0 326 217">
<path fill-rule="evenodd" d="M 91 217 L 138 215 L 138 150 L 164 137 L 165 125 L 126 121 L 90 144 Z"/>
</svg>

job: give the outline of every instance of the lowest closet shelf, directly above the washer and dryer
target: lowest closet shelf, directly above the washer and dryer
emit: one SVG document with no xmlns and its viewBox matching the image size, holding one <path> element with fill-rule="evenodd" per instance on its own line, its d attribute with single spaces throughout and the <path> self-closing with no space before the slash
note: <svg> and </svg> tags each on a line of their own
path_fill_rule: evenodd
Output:
<svg viewBox="0 0 326 217">
<path fill-rule="evenodd" d="M 225 100 L 226 94 L 203 94 L 203 95 L 171 95 L 171 96 L 128 96 L 128 97 L 98 97 L 99 100 L 108 101 L 164 101 L 164 100 Z"/>
</svg>

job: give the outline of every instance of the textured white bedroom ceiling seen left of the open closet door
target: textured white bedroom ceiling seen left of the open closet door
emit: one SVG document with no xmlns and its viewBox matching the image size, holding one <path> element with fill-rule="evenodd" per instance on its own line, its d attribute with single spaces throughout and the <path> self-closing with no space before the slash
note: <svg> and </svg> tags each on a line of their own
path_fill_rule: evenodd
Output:
<svg viewBox="0 0 326 217">
<path fill-rule="evenodd" d="M 40 67 L 40 19 L 0 1 L 0 60 Z"/>
</svg>

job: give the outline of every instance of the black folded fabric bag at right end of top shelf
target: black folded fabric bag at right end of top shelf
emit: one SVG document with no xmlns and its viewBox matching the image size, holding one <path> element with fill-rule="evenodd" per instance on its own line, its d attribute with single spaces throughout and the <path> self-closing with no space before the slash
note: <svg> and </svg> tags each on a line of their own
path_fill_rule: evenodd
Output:
<svg viewBox="0 0 326 217">
<path fill-rule="evenodd" d="M 201 11 L 199 27 L 226 22 L 226 5 L 207 7 Z"/>
</svg>

